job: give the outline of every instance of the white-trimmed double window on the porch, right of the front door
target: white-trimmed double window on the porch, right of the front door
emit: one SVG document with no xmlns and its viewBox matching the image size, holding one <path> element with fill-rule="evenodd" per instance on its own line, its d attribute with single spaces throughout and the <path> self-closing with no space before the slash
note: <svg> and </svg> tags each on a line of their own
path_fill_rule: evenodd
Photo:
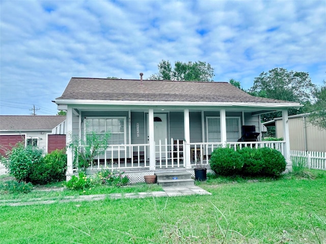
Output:
<svg viewBox="0 0 326 244">
<path fill-rule="evenodd" d="M 221 142 L 220 117 L 206 117 L 207 142 Z M 240 117 L 226 117 L 227 142 L 236 142 L 241 137 Z"/>
</svg>

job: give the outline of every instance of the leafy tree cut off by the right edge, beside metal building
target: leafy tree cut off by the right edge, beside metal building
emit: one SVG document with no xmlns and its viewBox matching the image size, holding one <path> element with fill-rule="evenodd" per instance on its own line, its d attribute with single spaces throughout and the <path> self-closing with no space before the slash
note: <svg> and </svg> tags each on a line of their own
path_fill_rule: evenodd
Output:
<svg viewBox="0 0 326 244">
<path fill-rule="evenodd" d="M 310 122 L 320 129 L 326 129 L 326 81 L 324 85 L 316 87 L 314 92 L 317 101 L 310 106 L 313 112 L 309 116 Z"/>
</svg>

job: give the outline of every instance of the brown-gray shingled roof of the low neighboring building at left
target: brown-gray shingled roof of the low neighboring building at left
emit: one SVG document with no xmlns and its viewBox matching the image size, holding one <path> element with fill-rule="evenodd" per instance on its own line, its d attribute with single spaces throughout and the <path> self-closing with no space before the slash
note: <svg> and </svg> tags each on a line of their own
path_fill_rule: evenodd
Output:
<svg viewBox="0 0 326 244">
<path fill-rule="evenodd" d="M 52 130 L 66 119 L 56 115 L 0 115 L 0 130 Z"/>
</svg>

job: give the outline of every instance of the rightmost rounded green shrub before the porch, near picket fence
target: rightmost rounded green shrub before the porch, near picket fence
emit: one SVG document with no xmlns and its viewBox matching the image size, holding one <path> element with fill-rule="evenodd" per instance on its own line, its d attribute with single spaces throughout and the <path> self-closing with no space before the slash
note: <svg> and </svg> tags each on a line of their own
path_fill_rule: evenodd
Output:
<svg viewBox="0 0 326 244">
<path fill-rule="evenodd" d="M 280 151 L 269 148 L 258 148 L 263 160 L 262 176 L 279 176 L 286 169 L 286 160 Z"/>
</svg>

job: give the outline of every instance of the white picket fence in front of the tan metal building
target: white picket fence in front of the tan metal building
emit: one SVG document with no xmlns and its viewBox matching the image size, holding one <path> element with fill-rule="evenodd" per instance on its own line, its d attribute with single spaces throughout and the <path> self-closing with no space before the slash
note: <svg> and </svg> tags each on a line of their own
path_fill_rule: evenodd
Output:
<svg viewBox="0 0 326 244">
<path fill-rule="evenodd" d="M 292 163 L 295 160 L 305 159 L 310 169 L 326 170 L 326 152 L 291 150 Z"/>
</svg>

